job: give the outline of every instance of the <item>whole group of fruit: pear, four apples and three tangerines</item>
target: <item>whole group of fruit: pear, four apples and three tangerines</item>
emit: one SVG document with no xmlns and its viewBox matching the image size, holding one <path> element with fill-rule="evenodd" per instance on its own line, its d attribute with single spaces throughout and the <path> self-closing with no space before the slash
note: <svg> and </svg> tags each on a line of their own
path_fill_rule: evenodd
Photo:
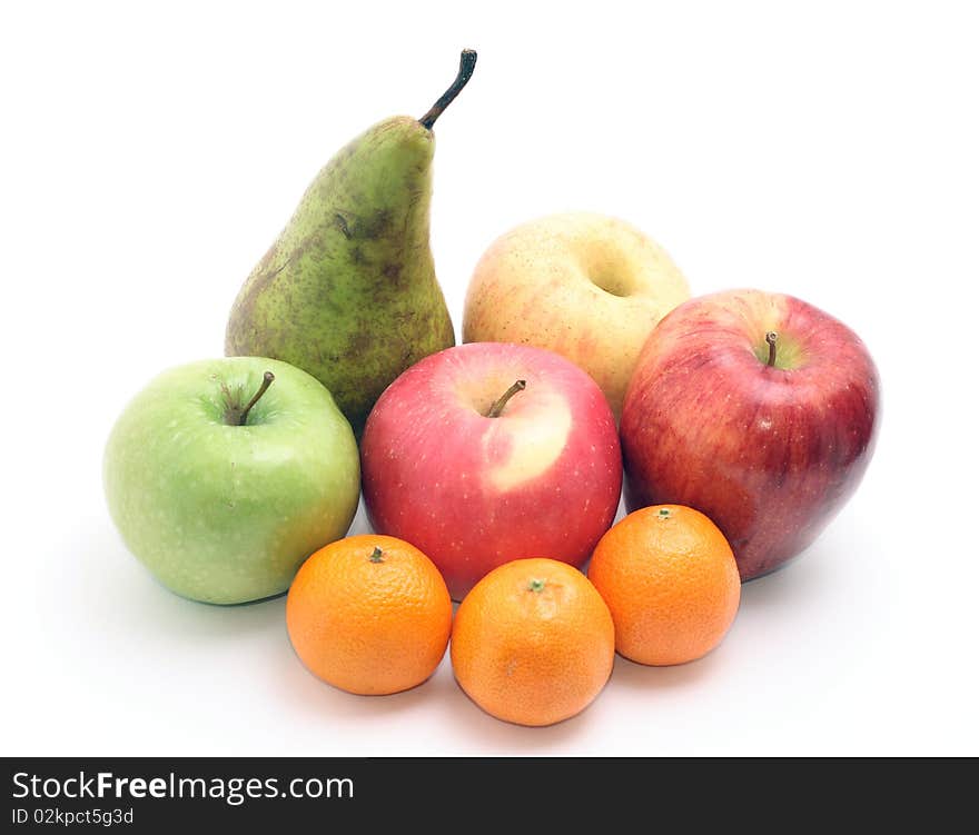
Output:
<svg viewBox="0 0 979 835">
<path fill-rule="evenodd" d="M 754 290 L 689 299 L 649 238 L 585 213 L 493 243 L 453 347 L 432 127 L 475 60 L 422 119 L 376 125 L 320 171 L 235 302 L 228 357 L 130 402 L 105 486 L 177 594 L 288 589 L 293 646 L 325 680 L 412 687 L 451 638 L 478 705 L 545 725 L 594 698 L 615 649 L 668 665 L 716 646 L 740 581 L 856 489 L 879 382 L 827 314 Z M 610 528 L 623 471 L 631 513 Z M 362 487 L 377 533 L 344 538 Z"/>
</svg>

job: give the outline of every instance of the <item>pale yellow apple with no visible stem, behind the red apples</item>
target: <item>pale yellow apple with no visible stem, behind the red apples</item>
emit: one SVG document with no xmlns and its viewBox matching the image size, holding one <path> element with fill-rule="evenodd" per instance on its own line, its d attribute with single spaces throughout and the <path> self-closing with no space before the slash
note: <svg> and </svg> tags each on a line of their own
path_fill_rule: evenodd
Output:
<svg viewBox="0 0 979 835">
<path fill-rule="evenodd" d="M 604 215 L 532 220 L 494 241 L 466 294 L 463 341 L 548 348 L 587 371 L 615 412 L 640 349 L 690 298 L 657 243 Z"/>
</svg>

